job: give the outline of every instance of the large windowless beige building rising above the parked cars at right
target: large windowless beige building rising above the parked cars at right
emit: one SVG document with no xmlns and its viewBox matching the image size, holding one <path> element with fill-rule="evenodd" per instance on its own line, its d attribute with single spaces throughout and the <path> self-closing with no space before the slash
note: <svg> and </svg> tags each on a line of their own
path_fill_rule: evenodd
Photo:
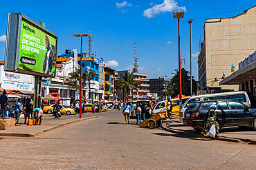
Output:
<svg viewBox="0 0 256 170">
<path fill-rule="evenodd" d="M 231 18 L 206 19 L 204 42 L 198 57 L 200 89 L 234 89 L 238 85 L 219 85 L 223 74 L 237 70 L 239 61 L 256 49 L 256 6 Z"/>
</svg>

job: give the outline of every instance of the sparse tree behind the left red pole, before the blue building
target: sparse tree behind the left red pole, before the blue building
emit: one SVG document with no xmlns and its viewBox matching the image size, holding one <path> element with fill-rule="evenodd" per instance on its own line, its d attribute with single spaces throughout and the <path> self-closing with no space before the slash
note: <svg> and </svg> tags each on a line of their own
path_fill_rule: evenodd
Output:
<svg viewBox="0 0 256 170">
<path fill-rule="evenodd" d="M 93 79 L 95 76 L 95 72 L 93 70 L 86 70 L 82 74 L 82 88 L 86 87 L 88 81 Z M 68 74 L 68 78 L 65 81 L 68 84 L 68 87 L 73 89 L 80 89 L 80 68 L 76 69 L 75 72 L 71 72 Z"/>
</svg>

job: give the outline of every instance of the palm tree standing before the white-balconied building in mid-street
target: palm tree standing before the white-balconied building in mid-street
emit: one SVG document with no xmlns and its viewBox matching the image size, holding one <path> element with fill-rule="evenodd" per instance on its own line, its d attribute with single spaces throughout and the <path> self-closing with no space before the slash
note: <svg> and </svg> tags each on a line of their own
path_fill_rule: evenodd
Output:
<svg viewBox="0 0 256 170">
<path fill-rule="evenodd" d="M 122 89 L 123 100 L 125 100 L 125 89 L 126 89 L 127 98 L 128 98 L 130 90 L 131 90 L 131 93 L 134 89 L 138 90 L 138 86 L 140 85 L 140 82 L 135 80 L 136 76 L 134 75 L 133 72 L 127 72 L 126 71 L 125 74 L 122 74 L 121 77 L 122 78 L 118 78 L 116 80 L 115 88 L 116 89 Z"/>
</svg>

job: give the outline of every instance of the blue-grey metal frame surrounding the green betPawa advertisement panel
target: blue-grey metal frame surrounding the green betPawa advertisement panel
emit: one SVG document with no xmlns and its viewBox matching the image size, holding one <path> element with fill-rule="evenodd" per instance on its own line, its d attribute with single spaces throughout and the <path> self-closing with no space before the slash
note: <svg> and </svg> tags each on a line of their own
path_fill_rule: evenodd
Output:
<svg viewBox="0 0 256 170">
<path fill-rule="evenodd" d="M 51 32 L 50 30 L 44 28 L 39 23 L 36 23 L 32 19 L 26 17 L 24 14 L 21 13 L 11 13 L 8 12 L 8 23 L 7 23 L 7 30 L 6 30 L 6 52 L 5 52 L 5 62 L 4 62 L 4 70 L 8 72 L 17 72 L 22 74 L 30 74 L 34 76 L 44 76 L 44 77 L 55 77 L 56 75 L 56 68 L 53 75 L 43 74 L 39 72 L 32 72 L 28 70 L 19 70 L 18 63 L 19 63 L 19 45 L 20 45 L 20 36 L 21 36 L 21 21 L 25 19 L 35 27 L 41 29 L 42 31 L 46 32 L 47 34 L 51 34 L 51 36 L 55 37 L 56 49 L 55 55 L 57 59 L 57 34 Z M 56 64 L 56 63 L 55 63 Z"/>
</svg>

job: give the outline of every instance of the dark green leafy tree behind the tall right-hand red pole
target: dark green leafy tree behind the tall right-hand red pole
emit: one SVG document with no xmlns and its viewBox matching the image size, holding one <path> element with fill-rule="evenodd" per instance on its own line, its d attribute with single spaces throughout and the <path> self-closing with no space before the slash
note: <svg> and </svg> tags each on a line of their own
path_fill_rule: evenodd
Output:
<svg viewBox="0 0 256 170">
<path fill-rule="evenodd" d="M 171 79 L 171 88 L 170 95 L 175 97 L 179 94 L 179 70 L 175 70 L 175 75 Z M 190 72 L 181 69 L 181 85 L 182 85 L 182 94 L 185 96 L 190 96 Z M 192 76 L 192 93 L 195 93 L 197 90 L 197 84 Z"/>
</svg>

